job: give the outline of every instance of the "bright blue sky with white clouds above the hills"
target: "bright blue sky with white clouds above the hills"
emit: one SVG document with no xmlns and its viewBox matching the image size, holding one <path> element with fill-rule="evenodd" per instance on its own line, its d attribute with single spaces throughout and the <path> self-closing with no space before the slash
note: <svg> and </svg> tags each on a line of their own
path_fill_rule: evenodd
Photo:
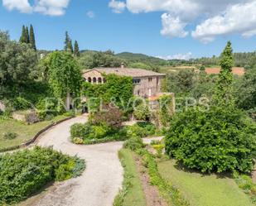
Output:
<svg viewBox="0 0 256 206">
<path fill-rule="evenodd" d="M 11 38 L 18 40 L 22 25 L 32 24 L 39 49 L 62 49 L 65 31 L 69 31 L 71 38 L 79 42 L 81 50 L 110 49 L 116 53 L 130 51 L 165 58 L 188 58 L 220 55 L 229 40 L 236 52 L 256 50 L 255 14 L 249 16 L 251 19 L 244 18 L 244 24 L 248 21 L 248 25 L 237 23 L 229 28 L 229 19 L 236 7 L 243 11 L 246 3 L 255 1 L 224 0 L 226 4 L 215 5 L 216 9 L 210 15 L 208 6 L 201 3 L 205 0 L 198 0 L 200 7 L 195 7 L 201 16 L 192 13 L 190 8 L 175 6 L 178 0 L 155 0 L 157 4 L 152 0 L 141 0 L 141 3 L 135 0 L 58 0 L 60 5 L 52 3 L 55 0 L 27 1 L 2 0 L 0 30 L 9 31 Z M 27 4 L 22 7 L 22 3 Z M 40 8 L 34 6 L 36 3 Z M 168 8 L 168 3 L 176 10 Z M 256 13 L 254 4 L 249 7 L 253 7 L 252 12 Z M 248 11 L 248 7 L 244 9 Z M 226 15 L 216 11 L 224 11 Z M 188 15 L 184 15 L 185 12 Z M 239 14 L 239 18 L 249 15 L 246 13 Z M 223 25 L 216 29 L 221 22 L 218 18 Z"/>
</svg>

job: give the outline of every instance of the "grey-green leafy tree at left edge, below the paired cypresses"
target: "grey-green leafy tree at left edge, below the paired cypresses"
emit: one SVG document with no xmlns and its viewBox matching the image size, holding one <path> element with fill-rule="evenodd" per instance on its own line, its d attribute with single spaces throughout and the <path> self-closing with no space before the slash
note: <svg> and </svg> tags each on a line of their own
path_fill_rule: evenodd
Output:
<svg viewBox="0 0 256 206">
<path fill-rule="evenodd" d="M 11 41 L 7 32 L 0 32 L 0 85 L 13 87 L 26 84 L 36 68 L 36 52 L 27 44 Z"/>
</svg>

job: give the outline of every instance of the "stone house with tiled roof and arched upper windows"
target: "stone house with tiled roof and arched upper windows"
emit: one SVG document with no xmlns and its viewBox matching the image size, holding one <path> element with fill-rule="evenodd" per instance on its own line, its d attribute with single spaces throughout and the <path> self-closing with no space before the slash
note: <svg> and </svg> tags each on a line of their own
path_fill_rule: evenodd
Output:
<svg viewBox="0 0 256 206">
<path fill-rule="evenodd" d="M 117 74 L 133 78 L 133 94 L 142 98 L 149 98 L 161 92 L 161 81 L 166 74 L 160 74 L 146 69 L 133 68 L 95 68 L 85 70 L 82 74 L 86 82 L 91 84 L 104 84 L 104 74 Z"/>
</svg>

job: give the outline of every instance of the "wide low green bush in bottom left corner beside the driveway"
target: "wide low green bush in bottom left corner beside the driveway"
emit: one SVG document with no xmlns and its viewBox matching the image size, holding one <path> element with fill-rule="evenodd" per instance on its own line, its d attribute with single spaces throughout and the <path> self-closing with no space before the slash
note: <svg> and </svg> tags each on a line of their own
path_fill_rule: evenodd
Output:
<svg viewBox="0 0 256 206">
<path fill-rule="evenodd" d="M 76 177 L 85 162 L 53 151 L 35 147 L 0 156 L 0 205 L 15 204 L 53 180 Z"/>
</svg>

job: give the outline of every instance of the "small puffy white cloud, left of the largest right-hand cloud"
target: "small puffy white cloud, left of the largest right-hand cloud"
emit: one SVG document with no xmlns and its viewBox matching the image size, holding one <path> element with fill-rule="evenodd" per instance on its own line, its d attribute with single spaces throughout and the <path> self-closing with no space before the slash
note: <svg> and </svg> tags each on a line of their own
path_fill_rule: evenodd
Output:
<svg viewBox="0 0 256 206">
<path fill-rule="evenodd" d="M 173 18 L 170 14 L 162 14 L 162 36 L 167 37 L 185 37 L 188 32 L 184 30 L 186 23 L 181 22 L 179 17 Z"/>
</svg>

